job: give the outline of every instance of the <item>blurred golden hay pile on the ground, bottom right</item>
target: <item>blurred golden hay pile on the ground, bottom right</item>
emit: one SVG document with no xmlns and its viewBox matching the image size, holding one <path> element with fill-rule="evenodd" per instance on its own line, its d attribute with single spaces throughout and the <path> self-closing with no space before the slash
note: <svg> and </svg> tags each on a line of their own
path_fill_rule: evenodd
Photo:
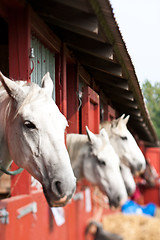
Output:
<svg viewBox="0 0 160 240">
<path fill-rule="evenodd" d="M 146 215 L 116 213 L 104 216 L 106 231 L 121 235 L 124 240 L 159 240 L 160 219 Z"/>
</svg>

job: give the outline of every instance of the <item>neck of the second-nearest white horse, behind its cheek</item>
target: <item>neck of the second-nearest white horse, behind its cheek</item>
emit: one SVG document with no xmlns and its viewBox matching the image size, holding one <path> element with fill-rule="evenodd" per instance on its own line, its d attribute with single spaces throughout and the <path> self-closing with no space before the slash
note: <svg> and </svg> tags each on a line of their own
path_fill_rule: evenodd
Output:
<svg viewBox="0 0 160 240">
<path fill-rule="evenodd" d="M 67 135 L 67 148 L 71 160 L 71 165 L 77 180 L 84 177 L 83 160 L 89 151 L 88 137 L 80 134 Z"/>
</svg>

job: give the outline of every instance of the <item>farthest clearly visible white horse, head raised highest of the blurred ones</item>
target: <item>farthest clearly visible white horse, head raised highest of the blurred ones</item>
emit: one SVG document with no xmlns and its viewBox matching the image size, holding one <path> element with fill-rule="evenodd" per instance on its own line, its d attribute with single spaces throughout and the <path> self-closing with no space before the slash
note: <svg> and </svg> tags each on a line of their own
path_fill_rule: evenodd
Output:
<svg viewBox="0 0 160 240">
<path fill-rule="evenodd" d="M 127 129 L 129 116 L 124 114 L 111 122 L 104 121 L 100 128 L 105 128 L 110 142 L 118 154 L 121 162 L 129 166 L 132 172 L 143 172 L 146 167 L 145 158 L 134 137 Z"/>
</svg>

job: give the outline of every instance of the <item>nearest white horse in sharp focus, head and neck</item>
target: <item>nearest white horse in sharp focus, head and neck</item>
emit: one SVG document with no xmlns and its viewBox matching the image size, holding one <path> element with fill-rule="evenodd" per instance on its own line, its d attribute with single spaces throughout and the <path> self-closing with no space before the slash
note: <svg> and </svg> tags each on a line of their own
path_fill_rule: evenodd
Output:
<svg viewBox="0 0 160 240">
<path fill-rule="evenodd" d="M 1 72 L 0 80 L 0 167 L 13 159 L 42 184 L 50 206 L 65 205 L 76 181 L 64 142 L 67 121 L 51 97 L 49 73 L 42 87 Z"/>
</svg>

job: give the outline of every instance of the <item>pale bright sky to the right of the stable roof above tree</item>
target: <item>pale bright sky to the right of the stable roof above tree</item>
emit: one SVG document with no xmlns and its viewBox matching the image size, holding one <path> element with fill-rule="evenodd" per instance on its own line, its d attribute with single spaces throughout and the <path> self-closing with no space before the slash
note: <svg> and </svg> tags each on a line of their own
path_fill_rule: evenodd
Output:
<svg viewBox="0 0 160 240">
<path fill-rule="evenodd" d="M 160 82 L 160 0 L 110 0 L 140 86 Z"/>
</svg>

